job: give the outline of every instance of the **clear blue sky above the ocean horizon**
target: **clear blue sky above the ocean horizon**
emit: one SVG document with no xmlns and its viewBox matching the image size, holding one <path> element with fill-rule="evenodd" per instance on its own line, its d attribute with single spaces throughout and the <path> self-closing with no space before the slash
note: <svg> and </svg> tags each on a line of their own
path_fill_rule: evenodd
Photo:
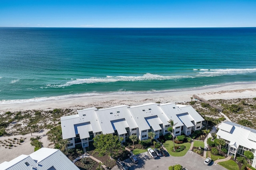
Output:
<svg viewBox="0 0 256 170">
<path fill-rule="evenodd" d="M 0 27 L 256 27 L 256 0 L 1 0 Z"/>
</svg>

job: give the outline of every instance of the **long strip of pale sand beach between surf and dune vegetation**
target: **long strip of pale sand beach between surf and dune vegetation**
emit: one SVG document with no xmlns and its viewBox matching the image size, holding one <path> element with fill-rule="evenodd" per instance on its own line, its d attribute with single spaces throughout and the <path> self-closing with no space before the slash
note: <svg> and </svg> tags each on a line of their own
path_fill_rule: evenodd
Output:
<svg viewBox="0 0 256 170">
<path fill-rule="evenodd" d="M 49 110 L 56 108 L 81 109 L 88 107 L 113 107 L 123 104 L 140 105 L 150 102 L 186 103 L 191 101 L 192 95 L 199 95 L 206 100 L 254 98 L 256 97 L 256 82 L 213 85 L 156 93 L 90 95 L 58 100 L 49 99 L 37 102 L 0 104 L 0 113 L 4 111 Z"/>
</svg>

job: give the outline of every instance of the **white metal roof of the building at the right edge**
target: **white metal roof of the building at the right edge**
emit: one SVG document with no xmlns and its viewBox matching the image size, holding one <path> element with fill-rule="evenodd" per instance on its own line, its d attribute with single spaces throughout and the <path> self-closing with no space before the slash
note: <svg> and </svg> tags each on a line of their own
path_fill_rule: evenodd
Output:
<svg viewBox="0 0 256 170">
<path fill-rule="evenodd" d="M 232 130 L 230 132 L 222 129 L 226 129 L 226 127 L 232 126 Z M 228 128 L 230 130 L 230 128 Z M 244 146 L 249 149 L 256 149 L 256 142 L 250 140 L 252 138 L 252 133 L 255 133 L 256 130 L 248 127 L 244 127 L 242 125 L 232 123 L 232 122 L 222 122 L 217 132 L 217 135 L 224 140 L 230 141 L 230 144 L 235 144 L 238 147 Z"/>
</svg>

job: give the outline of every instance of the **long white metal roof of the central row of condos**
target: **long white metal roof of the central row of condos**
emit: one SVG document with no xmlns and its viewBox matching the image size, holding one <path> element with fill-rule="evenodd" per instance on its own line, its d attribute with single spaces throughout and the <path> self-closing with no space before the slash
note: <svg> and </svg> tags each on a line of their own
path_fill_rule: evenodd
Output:
<svg viewBox="0 0 256 170">
<path fill-rule="evenodd" d="M 150 129 L 150 126 L 154 130 L 160 130 L 159 125 L 169 125 L 168 121 L 170 120 L 176 124 L 174 127 L 183 126 L 185 122 L 187 126 L 191 126 L 191 123 L 187 122 L 185 118 L 181 117 L 183 121 L 178 118 L 180 114 L 184 113 L 190 115 L 186 119 L 189 118 L 190 121 L 193 119 L 195 123 L 204 120 L 192 107 L 186 105 L 179 105 L 178 107 L 174 103 L 147 103 L 131 107 L 120 105 L 104 109 L 96 109 L 95 107 L 82 109 L 78 110 L 77 115 L 61 117 L 62 137 L 63 139 L 73 138 L 79 132 L 81 133 L 79 133 L 80 138 L 87 137 L 88 131 L 84 132 L 83 130 L 85 125 L 90 125 L 91 129 L 86 130 L 94 133 L 109 134 L 114 133 L 114 130 L 118 130 L 118 134 L 124 133 L 124 129 L 121 128 L 121 125 L 124 124 L 118 123 L 122 121 L 125 121 L 130 129 L 139 128 L 140 130 Z M 149 119 L 152 120 L 147 121 Z M 125 126 L 127 126 L 126 124 Z"/>
</svg>

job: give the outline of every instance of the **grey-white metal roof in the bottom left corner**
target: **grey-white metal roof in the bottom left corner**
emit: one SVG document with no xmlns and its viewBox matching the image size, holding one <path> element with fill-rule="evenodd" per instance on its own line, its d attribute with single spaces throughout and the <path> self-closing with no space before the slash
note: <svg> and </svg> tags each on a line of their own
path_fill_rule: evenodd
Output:
<svg viewBox="0 0 256 170">
<path fill-rule="evenodd" d="M 37 170 L 52 167 L 56 170 L 79 170 L 60 150 L 51 148 L 40 148 L 29 156 L 21 155 L 0 164 L 0 170 L 32 170 L 33 167 Z"/>
</svg>

